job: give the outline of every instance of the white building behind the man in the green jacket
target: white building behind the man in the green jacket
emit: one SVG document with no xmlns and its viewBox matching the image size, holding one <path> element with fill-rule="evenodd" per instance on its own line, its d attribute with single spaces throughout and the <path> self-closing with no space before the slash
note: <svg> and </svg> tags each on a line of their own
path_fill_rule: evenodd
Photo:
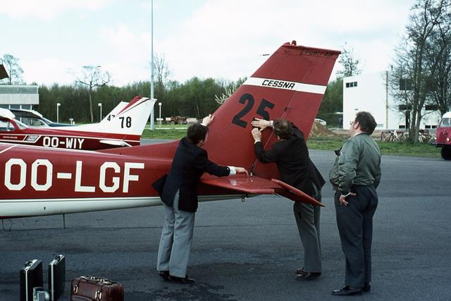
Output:
<svg viewBox="0 0 451 301">
<path fill-rule="evenodd" d="M 388 80 L 388 72 L 343 78 L 343 128 L 349 130 L 358 111 L 369 111 L 378 123 L 378 130 L 406 127 L 406 110 L 393 99 Z M 420 129 L 436 128 L 440 112 L 424 110 L 423 114 Z"/>
</svg>

